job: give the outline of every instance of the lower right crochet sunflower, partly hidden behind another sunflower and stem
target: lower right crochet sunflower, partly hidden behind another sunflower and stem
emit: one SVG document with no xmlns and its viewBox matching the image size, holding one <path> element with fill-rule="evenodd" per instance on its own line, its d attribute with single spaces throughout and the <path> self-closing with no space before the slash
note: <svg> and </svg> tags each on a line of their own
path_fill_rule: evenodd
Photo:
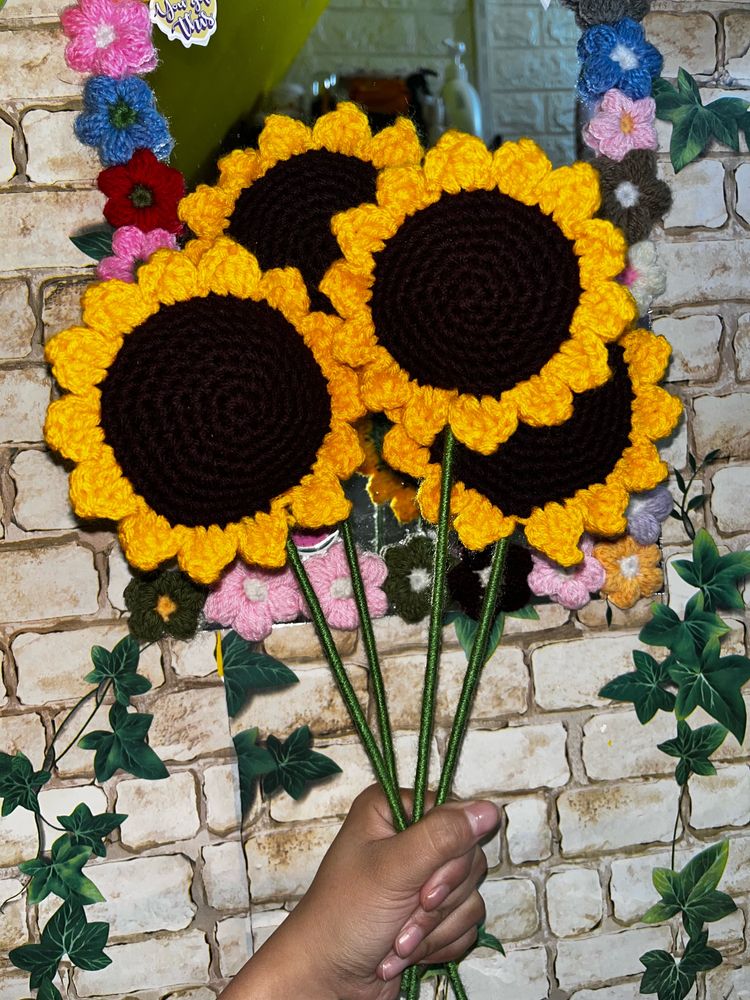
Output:
<svg viewBox="0 0 750 1000">
<path fill-rule="evenodd" d="M 654 441 L 671 433 L 681 412 L 679 400 L 656 385 L 669 353 L 663 337 L 632 330 L 608 348 L 610 380 L 577 395 L 564 424 L 520 424 L 492 455 L 457 444 L 451 513 L 464 545 L 483 549 L 521 524 L 534 548 L 572 566 L 583 557 L 584 531 L 622 534 L 629 494 L 653 489 L 667 475 Z M 419 446 L 397 424 L 383 456 L 423 478 L 417 499 L 425 518 L 436 522 L 438 443 Z"/>
</svg>

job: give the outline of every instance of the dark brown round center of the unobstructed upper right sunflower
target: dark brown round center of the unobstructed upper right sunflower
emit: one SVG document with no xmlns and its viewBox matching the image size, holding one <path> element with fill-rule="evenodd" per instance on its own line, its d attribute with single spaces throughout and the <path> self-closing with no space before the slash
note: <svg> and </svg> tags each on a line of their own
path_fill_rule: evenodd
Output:
<svg viewBox="0 0 750 1000">
<path fill-rule="evenodd" d="M 499 396 L 569 336 L 572 243 L 535 205 L 461 191 L 407 217 L 375 255 L 379 342 L 422 385 Z"/>
</svg>

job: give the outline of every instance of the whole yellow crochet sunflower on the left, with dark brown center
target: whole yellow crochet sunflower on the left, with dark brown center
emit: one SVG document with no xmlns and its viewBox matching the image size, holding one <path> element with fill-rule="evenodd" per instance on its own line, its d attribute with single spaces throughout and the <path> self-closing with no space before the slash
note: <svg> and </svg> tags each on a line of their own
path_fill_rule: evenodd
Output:
<svg viewBox="0 0 750 1000">
<path fill-rule="evenodd" d="M 177 557 L 210 583 L 238 554 L 281 566 L 290 526 L 348 515 L 341 480 L 362 462 L 340 322 L 309 312 L 297 271 L 262 273 L 223 238 L 197 263 L 163 250 L 137 283 L 90 288 L 84 325 L 47 347 L 68 392 L 45 436 L 77 463 L 76 512 L 119 521 L 139 569 Z"/>
</svg>

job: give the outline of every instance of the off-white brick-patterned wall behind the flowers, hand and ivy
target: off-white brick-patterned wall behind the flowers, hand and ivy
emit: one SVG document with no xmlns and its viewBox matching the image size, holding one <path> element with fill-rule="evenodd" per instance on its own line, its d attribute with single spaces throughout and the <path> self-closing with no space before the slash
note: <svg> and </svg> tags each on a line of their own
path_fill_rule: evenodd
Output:
<svg viewBox="0 0 750 1000">
<path fill-rule="evenodd" d="M 42 757 L 56 721 L 81 692 L 88 650 L 124 634 L 127 571 L 111 534 L 71 517 L 64 470 L 41 443 L 52 391 L 45 338 L 74 322 L 89 280 L 68 234 L 101 217 L 92 179 L 97 164 L 74 141 L 80 81 L 61 58 L 61 0 L 8 0 L 0 15 L 0 748 Z M 540 8 L 541 10 L 541 8 Z M 540 14 L 544 18 L 546 15 Z M 750 94 L 750 11 L 711 0 L 656 2 L 648 32 L 684 65 L 704 96 Z M 663 148 L 668 144 L 663 130 Z M 671 386 L 687 420 L 664 451 L 679 469 L 688 445 L 699 456 L 728 456 L 706 477 L 705 517 L 730 548 L 748 544 L 750 525 L 750 162 L 717 147 L 674 179 L 675 207 L 657 233 L 669 285 L 654 309 L 672 340 Z M 686 549 L 676 522 L 665 532 L 668 558 Z M 671 600 L 685 595 L 674 575 Z M 656 744 L 671 736 L 657 718 L 642 728 L 626 707 L 602 702 L 601 684 L 628 669 L 647 608 L 604 606 L 577 615 L 543 607 L 539 622 L 512 622 L 475 705 L 457 775 L 462 795 L 502 806 L 502 830 L 488 845 L 489 929 L 508 957 L 477 953 L 465 965 L 472 1000 L 636 1000 L 638 956 L 668 945 L 670 930 L 638 917 L 652 899 L 650 869 L 664 863 L 676 786 Z M 425 645 L 423 627 L 394 620 L 377 626 L 386 679 L 394 692 L 397 745 L 408 775 Z M 436 736 L 444 745 L 463 654 L 446 635 Z M 367 697 L 357 637 L 340 637 L 355 686 Z M 743 648 L 744 623 L 730 637 Z M 283 919 L 304 890 L 352 796 L 369 782 L 361 751 L 333 692 L 310 626 L 282 627 L 267 648 L 288 662 L 300 684 L 262 695 L 236 720 L 244 728 L 287 733 L 309 723 L 318 745 L 344 773 L 298 805 L 257 805 L 239 828 L 236 777 L 212 644 L 165 644 L 145 654 L 154 691 L 153 744 L 170 777 L 147 783 L 118 775 L 104 790 L 90 780 L 90 754 L 66 757 L 42 794 L 55 816 L 85 800 L 129 813 L 94 879 L 110 903 L 114 962 L 76 976 L 70 996 L 211 1000 L 224 978 Z M 731 840 L 727 889 L 740 910 L 712 925 L 726 964 L 709 978 L 707 1000 L 730 989 L 750 996 L 744 925 L 750 895 L 750 742 L 720 752 L 719 776 L 693 779 L 680 856 L 721 836 Z M 17 863 L 33 852 L 33 828 L 14 813 L 0 821 L 0 901 L 19 887 Z M 243 858 L 244 853 L 244 858 Z M 251 922 L 245 891 L 249 873 Z M 119 898 L 116 898 L 119 897 Z M 44 908 L 42 908 L 44 910 Z M 2 960 L 42 923 L 25 903 L 0 913 L 0 1000 L 28 995 L 27 979 Z M 96 913 L 96 910 L 94 911 Z M 93 914 L 92 914 L 93 915 Z"/>
</svg>

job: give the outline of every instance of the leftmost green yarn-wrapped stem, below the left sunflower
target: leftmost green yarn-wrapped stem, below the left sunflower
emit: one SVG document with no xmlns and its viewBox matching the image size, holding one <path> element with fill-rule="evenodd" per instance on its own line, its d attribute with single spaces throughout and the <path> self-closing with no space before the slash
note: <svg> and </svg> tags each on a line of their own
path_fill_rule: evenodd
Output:
<svg viewBox="0 0 750 1000">
<path fill-rule="evenodd" d="M 318 634 L 318 639 L 323 647 L 323 652 L 325 653 L 329 666 L 333 671 L 333 676 L 336 680 L 339 693 L 344 699 L 344 704 L 349 711 L 349 715 L 354 723 L 354 728 L 357 730 L 357 735 L 359 736 L 360 742 L 365 749 L 365 753 L 370 759 L 370 763 L 375 771 L 375 776 L 385 792 L 388 805 L 393 813 L 394 826 L 398 831 L 405 830 L 407 826 L 406 813 L 404 812 L 398 788 L 391 780 L 390 773 L 386 767 L 385 761 L 383 760 L 383 755 L 380 752 L 380 748 L 378 747 L 375 737 L 372 734 L 372 730 L 367 724 L 365 714 L 362 711 L 359 701 L 357 700 L 357 694 L 347 676 L 344 664 L 341 662 L 339 651 L 336 649 L 336 643 L 334 642 L 331 630 L 328 627 L 328 622 L 323 614 L 323 609 L 320 606 L 318 595 L 315 593 L 312 583 L 310 583 L 310 578 L 307 575 L 307 571 L 305 570 L 302 559 L 300 558 L 300 554 L 297 551 L 297 546 L 291 538 L 287 539 L 286 553 L 287 558 L 289 559 L 289 564 L 292 567 L 292 572 L 294 573 L 297 583 L 299 584 L 299 589 L 302 591 L 302 595 L 307 601 L 307 606 L 310 609 L 310 615 L 313 620 L 313 625 L 315 626 L 315 631 Z"/>
</svg>

